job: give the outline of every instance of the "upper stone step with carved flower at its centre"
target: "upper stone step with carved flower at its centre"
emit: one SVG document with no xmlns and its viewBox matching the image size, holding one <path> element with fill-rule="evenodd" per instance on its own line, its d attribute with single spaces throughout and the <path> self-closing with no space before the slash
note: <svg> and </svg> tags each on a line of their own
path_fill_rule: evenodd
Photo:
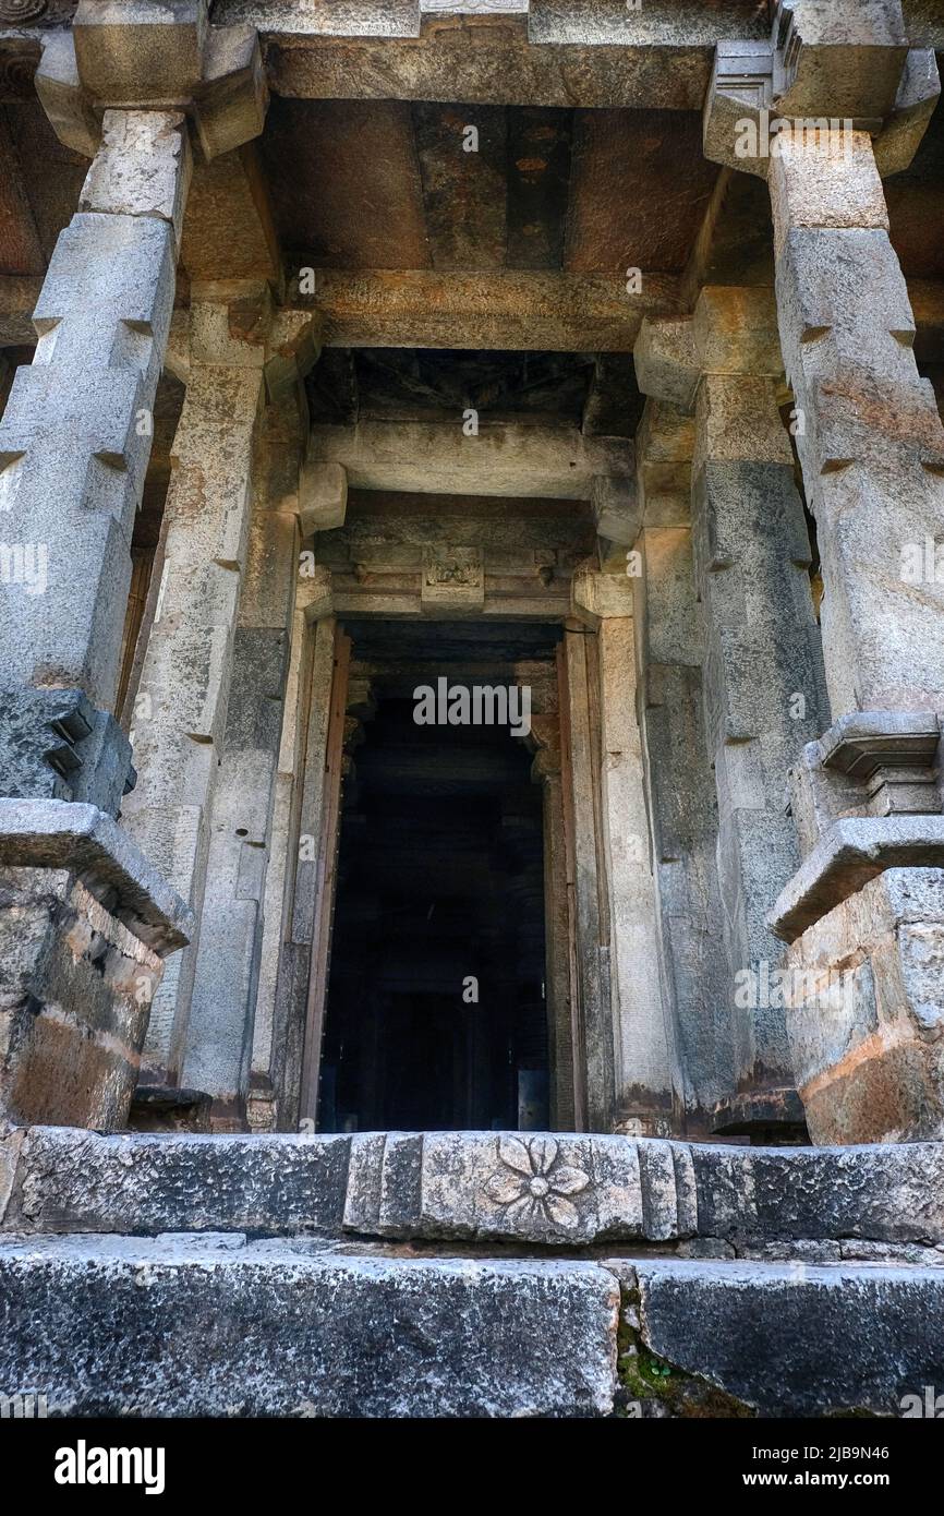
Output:
<svg viewBox="0 0 944 1516">
<path fill-rule="evenodd" d="M 0 1228 L 299 1231 L 944 1261 L 944 1145 L 733 1148 L 518 1132 L 0 1139 Z M 808 1243 L 806 1251 L 796 1243 Z"/>
</svg>

